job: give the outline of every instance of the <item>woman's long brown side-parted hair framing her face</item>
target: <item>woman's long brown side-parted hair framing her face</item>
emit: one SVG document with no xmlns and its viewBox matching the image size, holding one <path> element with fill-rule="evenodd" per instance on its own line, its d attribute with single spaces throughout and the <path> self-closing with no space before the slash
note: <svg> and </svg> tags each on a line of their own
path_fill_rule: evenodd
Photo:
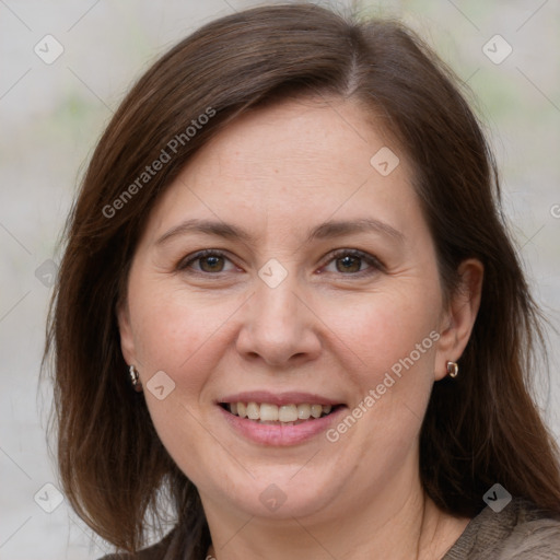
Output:
<svg viewBox="0 0 560 560">
<path fill-rule="evenodd" d="M 291 4 L 209 23 L 133 86 L 98 142 L 69 217 L 45 354 L 54 359 L 63 488 L 97 534 L 137 550 L 145 514 L 162 513 L 158 491 L 166 488 L 188 540 L 186 558 L 206 552 L 198 492 L 130 387 L 115 310 L 126 298 L 142 224 L 192 154 L 241 113 L 300 94 L 351 97 L 384 115 L 415 166 L 446 294 L 463 259 L 485 266 L 460 375 L 434 385 L 423 421 L 424 489 L 441 509 L 474 516 L 485 492 L 500 482 L 560 513 L 558 451 L 527 388 L 542 338 L 539 316 L 501 214 L 495 164 L 454 83 L 398 23 L 357 23 L 313 4 Z M 203 114 L 212 116 L 186 133 Z M 182 133 L 171 161 L 135 183 Z"/>
</svg>

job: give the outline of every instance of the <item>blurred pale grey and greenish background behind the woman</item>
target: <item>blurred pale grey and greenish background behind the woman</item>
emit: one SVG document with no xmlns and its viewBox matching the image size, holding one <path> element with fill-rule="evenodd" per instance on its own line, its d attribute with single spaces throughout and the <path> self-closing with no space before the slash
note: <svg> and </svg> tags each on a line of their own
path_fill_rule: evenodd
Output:
<svg viewBox="0 0 560 560">
<path fill-rule="evenodd" d="M 93 148 L 130 84 L 201 24 L 262 2 L 0 0 L 0 558 L 86 560 L 109 547 L 72 514 L 38 386 L 57 244 Z M 318 2 L 402 19 L 472 90 L 536 299 L 560 328 L 560 3 Z M 560 336 L 536 398 L 560 441 Z M 84 402 L 84 407 L 88 404 Z"/>
</svg>

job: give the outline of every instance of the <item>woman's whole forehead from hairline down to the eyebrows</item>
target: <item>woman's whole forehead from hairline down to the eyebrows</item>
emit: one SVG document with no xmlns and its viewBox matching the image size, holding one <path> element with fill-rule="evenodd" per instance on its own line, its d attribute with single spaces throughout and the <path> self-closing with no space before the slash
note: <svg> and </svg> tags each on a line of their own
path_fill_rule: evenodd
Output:
<svg viewBox="0 0 560 560">
<path fill-rule="evenodd" d="M 266 217 L 277 228 L 335 213 L 399 221 L 411 202 L 407 159 L 363 106 L 298 100 L 252 110 L 218 133 L 167 187 L 150 229 L 194 217 L 245 225 Z"/>
</svg>

